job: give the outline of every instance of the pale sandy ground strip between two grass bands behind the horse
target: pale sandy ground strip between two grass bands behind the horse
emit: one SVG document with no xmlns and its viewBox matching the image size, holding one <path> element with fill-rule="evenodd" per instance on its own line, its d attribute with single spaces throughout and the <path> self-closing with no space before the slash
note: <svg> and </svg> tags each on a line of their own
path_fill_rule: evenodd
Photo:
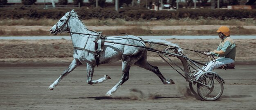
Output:
<svg viewBox="0 0 256 110">
<path fill-rule="evenodd" d="M 221 25 L 189 25 L 189 26 L 141 26 L 142 29 L 151 29 L 151 30 L 216 30 Z M 136 26 L 137 27 L 137 26 Z M 231 26 L 232 27 L 232 26 Z M 241 26 L 245 29 L 256 29 L 256 26 Z M 0 26 L 0 29 L 4 31 L 30 31 L 41 29 L 43 31 L 49 31 L 52 26 Z M 87 26 L 91 30 L 117 30 L 117 29 L 131 29 L 135 26 Z"/>
</svg>

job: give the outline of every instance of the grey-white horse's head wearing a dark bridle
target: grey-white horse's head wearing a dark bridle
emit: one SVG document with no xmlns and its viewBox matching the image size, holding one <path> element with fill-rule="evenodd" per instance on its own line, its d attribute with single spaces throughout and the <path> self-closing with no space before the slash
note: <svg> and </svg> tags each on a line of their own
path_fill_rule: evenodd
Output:
<svg viewBox="0 0 256 110">
<path fill-rule="evenodd" d="M 51 34 L 56 35 L 57 33 L 69 31 L 68 24 L 71 17 L 76 17 L 74 9 L 65 13 L 65 15 L 58 20 L 58 22 L 50 29 Z"/>
</svg>

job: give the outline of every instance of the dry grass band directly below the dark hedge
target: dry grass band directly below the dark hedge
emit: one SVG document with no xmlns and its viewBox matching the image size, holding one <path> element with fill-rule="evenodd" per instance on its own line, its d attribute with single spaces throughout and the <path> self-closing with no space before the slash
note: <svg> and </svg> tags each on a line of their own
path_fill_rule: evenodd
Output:
<svg viewBox="0 0 256 110">
<path fill-rule="evenodd" d="M 0 20 L 0 25 L 2 26 L 13 26 L 13 25 L 24 25 L 24 26 L 53 26 L 58 20 L 54 19 L 40 19 L 40 20 L 27 20 L 27 19 L 5 19 Z M 125 21 L 124 19 L 90 19 L 83 20 L 86 26 L 173 26 L 173 25 L 256 25 L 256 20 L 253 18 L 246 18 L 242 20 L 232 19 L 232 20 L 217 20 L 217 19 L 170 19 L 170 20 L 137 20 L 137 21 Z"/>
</svg>

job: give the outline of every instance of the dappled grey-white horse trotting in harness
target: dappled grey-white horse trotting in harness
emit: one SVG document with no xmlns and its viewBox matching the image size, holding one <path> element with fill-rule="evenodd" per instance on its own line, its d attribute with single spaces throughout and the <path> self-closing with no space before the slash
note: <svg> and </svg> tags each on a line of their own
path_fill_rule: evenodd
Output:
<svg viewBox="0 0 256 110">
<path fill-rule="evenodd" d="M 79 16 L 74 10 L 65 13 L 65 15 L 52 27 L 50 32 L 52 34 L 61 33 L 63 31 L 76 32 L 83 34 L 74 34 L 70 33 L 72 43 L 74 48 L 74 60 L 67 67 L 67 69 L 61 74 L 61 76 L 49 86 L 48 90 L 53 90 L 58 83 L 60 83 L 63 77 L 67 76 L 72 70 L 74 70 L 79 65 L 87 65 L 87 83 L 96 84 L 102 83 L 110 79 L 110 76 L 105 75 L 101 79 L 92 80 L 94 67 L 97 65 L 95 58 L 95 39 L 99 33 L 95 31 L 90 31 L 87 29 L 83 22 L 79 19 Z M 84 35 L 88 34 L 88 35 Z M 91 35 L 89 35 L 91 34 Z M 92 36 L 95 35 L 95 36 Z M 145 46 L 145 43 L 141 41 L 140 38 L 136 36 L 121 36 L 122 38 L 108 37 L 106 41 L 113 41 L 118 43 L 125 43 L 131 45 Z M 137 40 L 134 40 L 137 39 Z M 172 45 L 178 47 L 177 45 L 164 41 L 164 40 L 146 40 L 156 43 L 164 43 L 167 45 Z M 146 46 L 145 46 L 146 47 Z M 113 43 L 105 43 L 104 51 L 99 53 L 99 64 L 113 63 L 122 59 L 122 76 L 121 80 L 106 93 L 106 96 L 111 96 L 125 81 L 129 78 L 129 70 L 132 64 L 135 64 L 139 67 L 142 67 L 146 70 L 154 72 L 164 84 L 174 84 L 170 80 L 166 80 L 161 72 L 158 70 L 158 67 L 152 66 L 147 62 L 147 49 L 141 47 L 133 47 L 128 45 L 120 45 Z"/>
</svg>

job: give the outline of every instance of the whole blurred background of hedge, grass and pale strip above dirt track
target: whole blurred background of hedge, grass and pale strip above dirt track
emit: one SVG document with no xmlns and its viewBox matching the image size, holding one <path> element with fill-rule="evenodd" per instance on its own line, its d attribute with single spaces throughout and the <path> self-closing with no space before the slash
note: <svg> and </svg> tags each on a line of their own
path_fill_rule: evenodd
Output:
<svg viewBox="0 0 256 110">
<path fill-rule="evenodd" d="M 61 40 L 49 40 L 54 38 L 49 30 L 72 9 L 88 29 L 102 31 L 103 35 L 175 36 L 167 39 L 196 50 L 216 49 L 216 30 L 225 25 L 231 29 L 231 37 L 239 39 L 237 52 L 241 53 L 237 59 L 252 61 L 256 54 L 255 5 L 256 0 L 0 0 L 0 38 L 8 39 L 0 42 L 0 61 L 72 59 L 69 34 L 58 34 L 66 36 Z M 184 35 L 197 37 L 179 40 Z M 31 36 L 35 40 L 12 38 L 15 36 Z M 46 40 L 38 40 L 38 36 Z M 218 40 L 200 39 L 205 36 Z"/>
</svg>

